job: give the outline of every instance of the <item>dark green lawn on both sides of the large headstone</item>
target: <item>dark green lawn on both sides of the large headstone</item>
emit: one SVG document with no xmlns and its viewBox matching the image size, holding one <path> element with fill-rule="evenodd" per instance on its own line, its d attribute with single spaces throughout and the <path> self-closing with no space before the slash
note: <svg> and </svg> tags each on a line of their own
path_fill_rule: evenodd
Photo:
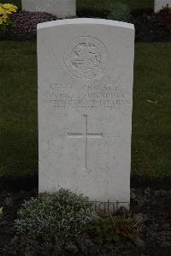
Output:
<svg viewBox="0 0 171 256">
<path fill-rule="evenodd" d="M 135 45 L 132 172 L 171 176 L 171 43 Z M 35 42 L 0 42 L 0 176 L 38 174 Z"/>
</svg>

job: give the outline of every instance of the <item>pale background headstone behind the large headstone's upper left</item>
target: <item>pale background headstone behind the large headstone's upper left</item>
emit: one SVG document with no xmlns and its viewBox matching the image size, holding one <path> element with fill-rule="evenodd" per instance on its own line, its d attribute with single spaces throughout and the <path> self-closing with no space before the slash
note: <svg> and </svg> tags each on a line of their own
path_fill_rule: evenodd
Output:
<svg viewBox="0 0 171 256">
<path fill-rule="evenodd" d="M 76 15 L 76 0 L 22 0 L 22 9 L 40 11 L 65 18 Z"/>
</svg>

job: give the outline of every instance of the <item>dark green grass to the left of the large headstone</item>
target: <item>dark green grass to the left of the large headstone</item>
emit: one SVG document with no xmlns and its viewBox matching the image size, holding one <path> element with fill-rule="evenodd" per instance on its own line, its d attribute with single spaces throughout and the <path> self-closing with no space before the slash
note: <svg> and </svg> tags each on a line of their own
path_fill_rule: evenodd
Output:
<svg viewBox="0 0 171 256">
<path fill-rule="evenodd" d="M 36 43 L 0 42 L 0 176 L 38 170 Z"/>
</svg>

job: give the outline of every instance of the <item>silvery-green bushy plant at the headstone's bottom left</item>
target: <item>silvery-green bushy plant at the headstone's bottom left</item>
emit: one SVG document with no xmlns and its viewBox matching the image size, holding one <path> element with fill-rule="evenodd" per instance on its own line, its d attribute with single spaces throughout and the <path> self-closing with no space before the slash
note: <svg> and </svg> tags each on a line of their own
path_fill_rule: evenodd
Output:
<svg viewBox="0 0 171 256">
<path fill-rule="evenodd" d="M 15 227 L 18 232 L 35 237 L 72 237 L 97 218 L 86 197 L 60 189 L 56 193 L 39 193 L 37 198 L 25 201 L 18 212 Z"/>
</svg>

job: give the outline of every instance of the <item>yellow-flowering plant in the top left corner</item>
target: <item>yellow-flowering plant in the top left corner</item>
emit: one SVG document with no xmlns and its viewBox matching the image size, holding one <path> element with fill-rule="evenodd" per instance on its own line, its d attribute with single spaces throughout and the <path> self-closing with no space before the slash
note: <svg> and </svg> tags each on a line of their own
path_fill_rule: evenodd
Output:
<svg viewBox="0 0 171 256">
<path fill-rule="evenodd" d="M 15 24 L 10 21 L 9 15 L 17 12 L 18 8 L 11 3 L 0 3 L 0 32 L 9 30 Z"/>
</svg>

